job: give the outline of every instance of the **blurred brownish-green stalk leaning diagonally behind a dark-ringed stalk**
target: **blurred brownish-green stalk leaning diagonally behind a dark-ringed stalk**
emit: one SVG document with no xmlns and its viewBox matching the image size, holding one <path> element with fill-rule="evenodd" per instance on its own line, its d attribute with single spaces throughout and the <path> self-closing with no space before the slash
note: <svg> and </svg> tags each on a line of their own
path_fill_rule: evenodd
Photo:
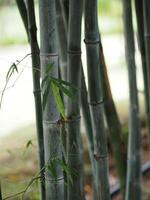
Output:
<svg viewBox="0 0 150 200">
<path fill-rule="evenodd" d="M 126 151 L 122 147 L 122 127 L 113 101 L 110 83 L 107 74 L 102 43 L 100 41 L 101 79 L 103 87 L 104 110 L 109 128 L 111 145 L 115 157 L 116 168 L 120 179 L 121 191 L 124 195 L 126 184 Z"/>
</svg>

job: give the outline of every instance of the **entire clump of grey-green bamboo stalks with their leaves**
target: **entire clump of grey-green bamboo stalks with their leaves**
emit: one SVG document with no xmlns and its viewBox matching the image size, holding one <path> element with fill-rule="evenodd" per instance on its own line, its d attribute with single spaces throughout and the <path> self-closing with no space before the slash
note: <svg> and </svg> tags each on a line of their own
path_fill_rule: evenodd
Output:
<svg viewBox="0 0 150 200">
<path fill-rule="evenodd" d="M 16 0 L 31 47 L 41 200 L 86 199 L 82 118 L 91 162 L 93 200 L 111 199 L 108 143 L 122 199 L 142 199 L 135 40 L 141 55 L 145 116 L 150 132 L 150 1 L 121 3 L 129 83 L 127 144 L 107 74 L 98 0 L 39 0 L 40 44 L 34 0 Z M 82 37 L 87 66 L 81 59 Z M 83 68 L 87 68 L 88 84 Z"/>
</svg>

